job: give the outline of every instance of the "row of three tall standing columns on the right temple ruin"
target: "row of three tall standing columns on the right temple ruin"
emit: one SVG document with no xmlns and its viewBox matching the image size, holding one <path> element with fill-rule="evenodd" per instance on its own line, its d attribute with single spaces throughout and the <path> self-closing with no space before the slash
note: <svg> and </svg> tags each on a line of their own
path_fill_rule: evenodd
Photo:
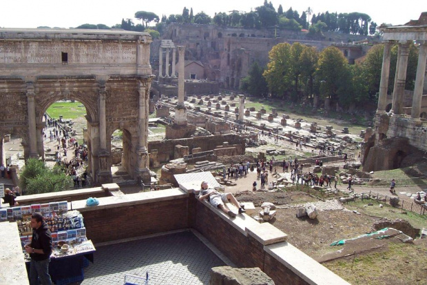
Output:
<svg viewBox="0 0 427 285">
<path fill-rule="evenodd" d="M 384 43 L 384 56 L 382 59 L 382 72 L 381 72 L 381 81 L 379 83 L 379 97 L 378 97 L 378 112 L 386 112 L 386 96 L 388 90 L 388 78 L 390 75 L 390 58 L 391 58 L 391 46 L 394 41 L 386 41 Z M 398 52 L 397 52 L 397 63 L 396 63 L 396 72 L 395 72 L 395 83 L 393 88 L 393 103 L 392 110 L 393 114 L 400 115 L 403 110 L 403 97 L 406 81 L 406 68 L 408 67 L 408 55 L 409 50 L 408 41 L 398 43 Z M 419 115 L 421 113 L 421 98 L 423 93 L 424 77 L 426 74 L 426 61 L 427 61 L 427 43 L 421 43 L 419 46 L 419 55 L 418 55 L 418 66 L 417 66 L 417 75 L 415 78 L 415 88 L 413 93 L 413 102 L 411 117 L 413 119 L 419 120 Z"/>
</svg>

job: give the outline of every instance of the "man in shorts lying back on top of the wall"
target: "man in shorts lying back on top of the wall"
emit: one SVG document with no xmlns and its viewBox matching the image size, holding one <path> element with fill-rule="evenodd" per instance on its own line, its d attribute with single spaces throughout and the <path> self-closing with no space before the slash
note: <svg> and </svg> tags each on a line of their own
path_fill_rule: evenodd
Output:
<svg viewBox="0 0 427 285">
<path fill-rule="evenodd" d="M 201 190 L 198 199 L 208 199 L 212 206 L 220 208 L 222 212 L 226 213 L 230 217 L 236 217 L 236 214 L 233 213 L 225 203 L 230 202 L 234 206 L 239 208 L 239 214 L 244 213 L 244 207 L 240 205 L 237 199 L 231 193 L 219 193 L 213 188 L 209 188 L 207 182 L 203 181 L 200 185 Z"/>
</svg>

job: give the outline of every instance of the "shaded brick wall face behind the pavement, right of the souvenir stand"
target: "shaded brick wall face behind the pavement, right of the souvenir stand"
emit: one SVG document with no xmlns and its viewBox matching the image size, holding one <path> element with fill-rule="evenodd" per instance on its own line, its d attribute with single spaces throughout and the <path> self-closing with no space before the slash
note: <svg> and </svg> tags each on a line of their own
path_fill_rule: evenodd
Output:
<svg viewBox="0 0 427 285">
<path fill-rule="evenodd" d="M 82 211 L 86 235 L 96 244 L 188 228 L 188 199 Z"/>
</svg>

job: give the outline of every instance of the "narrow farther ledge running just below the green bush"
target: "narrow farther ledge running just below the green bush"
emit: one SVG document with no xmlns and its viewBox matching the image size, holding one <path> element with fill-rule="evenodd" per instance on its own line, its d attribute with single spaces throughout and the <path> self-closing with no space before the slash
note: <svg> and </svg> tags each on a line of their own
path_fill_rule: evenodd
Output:
<svg viewBox="0 0 427 285">
<path fill-rule="evenodd" d="M 101 187 L 96 188 L 84 188 L 84 189 L 76 189 L 76 190 L 67 190 L 61 192 L 53 192 L 53 193 L 43 193 L 43 194 L 34 194 L 34 195 L 24 195 L 18 196 L 15 199 L 20 205 L 28 205 L 28 204 L 37 204 L 37 203 L 48 203 L 48 202 L 58 202 L 70 200 L 72 197 L 79 197 L 87 195 L 87 197 L 101 197 L 105 196 L 105 190 Z"/>
</svg>

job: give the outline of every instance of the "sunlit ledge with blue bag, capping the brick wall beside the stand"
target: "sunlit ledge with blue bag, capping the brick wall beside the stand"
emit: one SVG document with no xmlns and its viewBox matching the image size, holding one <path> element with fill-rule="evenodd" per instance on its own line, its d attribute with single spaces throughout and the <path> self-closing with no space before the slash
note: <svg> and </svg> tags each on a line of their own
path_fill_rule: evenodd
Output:
<svg viewBox="0 0 427 285">
<path fill-rule="evenodd" d="M 134 193 L 121 196 L 101 197 L 98 198 L 99 205 L 97 206 L 86 206 L 86 200 L 73 201 L 72 209 L 79 210 L 83 213 L 91 210 L 147 204 L 152 202 L 182 199 L 185 197 L 188 197 L 188 194 L 183 190 L 180 190 L 180 188 L 171 188 L 167 190 Z"/>
</svg>

